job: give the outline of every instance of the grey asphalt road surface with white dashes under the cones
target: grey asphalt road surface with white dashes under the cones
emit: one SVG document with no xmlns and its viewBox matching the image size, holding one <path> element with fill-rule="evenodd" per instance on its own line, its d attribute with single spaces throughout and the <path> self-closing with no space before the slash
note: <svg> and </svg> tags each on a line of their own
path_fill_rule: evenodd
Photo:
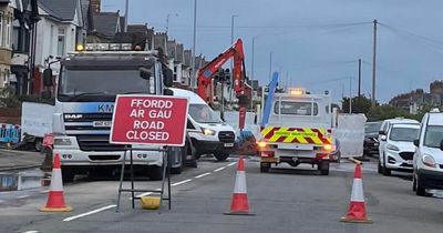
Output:
<svg viewBox="0 0 443 233">
<path fill-rule="evenodd" d="M 237 158 L 216 162 L 203 158 L 198 169 L 172 176 L 172 210 L 162 213 L 131 209 L 123 194 L 115 213 L 117 178 L 81 178 L 64 186 L 69 213 L 41 213 L 44 189 L 0 193 L 2 232 L 442 232 L 442 200 L 416 196 L 411 174 L 377 173 L 377 163 L 362 165 L 365 203 L 372 224 L 341 223 L 347 212 L 354 164 L 343 161 L 322 176 L 310 166 L 281 165 L 260 173 L 255 158 L 246 160 L 249 204 L 255 216 L 224 215 L 230 205 Z M 126 182 L 125 185 L 128 185 Z M 140 179 L 136 188 L 156 189 Z"/>
</svg>

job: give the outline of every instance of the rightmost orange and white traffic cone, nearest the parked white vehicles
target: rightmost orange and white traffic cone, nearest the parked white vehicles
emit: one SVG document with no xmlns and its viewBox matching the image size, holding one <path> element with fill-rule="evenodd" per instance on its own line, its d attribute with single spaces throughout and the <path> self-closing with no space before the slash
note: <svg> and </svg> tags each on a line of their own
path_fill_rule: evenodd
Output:
<svg viewBox="0 0 443 233">
<path fill-rule="evenodd" d="M 340 221 L 348 223 L 372 223 L 372 220 L 367 216 L 360 163 L 356 165 L 349 211 Z"/>
</svg>

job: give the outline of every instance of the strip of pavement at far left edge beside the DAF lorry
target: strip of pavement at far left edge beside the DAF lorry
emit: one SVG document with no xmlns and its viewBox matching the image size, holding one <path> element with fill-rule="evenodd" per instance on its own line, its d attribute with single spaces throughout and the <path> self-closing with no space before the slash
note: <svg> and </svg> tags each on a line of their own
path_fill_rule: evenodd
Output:
<svg viewBox="0 0 443 233">
<path fill-rule="evenodd" d="M 43 160 L 40 152 L 0 149 L 0 172 L 38 168 Z"/>
</svg>

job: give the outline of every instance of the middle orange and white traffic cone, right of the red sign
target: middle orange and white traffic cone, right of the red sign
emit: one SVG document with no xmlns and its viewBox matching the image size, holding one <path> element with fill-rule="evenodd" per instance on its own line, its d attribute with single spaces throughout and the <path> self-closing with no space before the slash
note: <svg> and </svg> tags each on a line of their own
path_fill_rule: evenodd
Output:
<svg viewBox="0 0 443 233">
<path fill-rule="evenodd" d="M 230 212 L 227 215 L 254 215 L 249 213 L 248 193 L 246 190 L 245 160 L 240 156 L 234 188 Z"/>
</svg>

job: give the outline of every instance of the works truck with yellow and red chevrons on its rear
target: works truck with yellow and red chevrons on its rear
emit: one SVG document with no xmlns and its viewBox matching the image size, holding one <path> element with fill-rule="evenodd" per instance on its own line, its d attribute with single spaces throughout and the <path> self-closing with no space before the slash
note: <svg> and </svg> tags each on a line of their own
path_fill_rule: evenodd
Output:
<svg viewBox="0 0 443 233">
<path fill-rule="evenodd" d="M 269 91 L 261 111 L 261 139 L 258 144 L 260 172 L 271 164 L 301 163 L 318 166 L 329 174 L 334 144 L 332 139 L 331 95 L 311 94 L 303 89 L 287 93 Z"/>
</svg>

